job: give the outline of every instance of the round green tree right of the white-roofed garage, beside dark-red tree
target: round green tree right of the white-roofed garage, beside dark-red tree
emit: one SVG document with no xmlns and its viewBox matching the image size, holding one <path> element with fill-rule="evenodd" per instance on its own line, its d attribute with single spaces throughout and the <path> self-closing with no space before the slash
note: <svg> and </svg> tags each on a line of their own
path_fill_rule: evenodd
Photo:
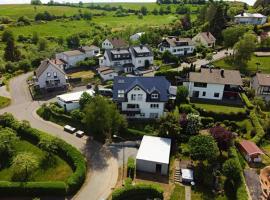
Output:
<svg viewBox="0 0 270 200">
<path fill-rule="evenodd" d="M 188 141 L 190 156 L 193 160 L 214 161 L 217 158 L 218 147 L 212 136 L 196 135 Z"/>
</svg>

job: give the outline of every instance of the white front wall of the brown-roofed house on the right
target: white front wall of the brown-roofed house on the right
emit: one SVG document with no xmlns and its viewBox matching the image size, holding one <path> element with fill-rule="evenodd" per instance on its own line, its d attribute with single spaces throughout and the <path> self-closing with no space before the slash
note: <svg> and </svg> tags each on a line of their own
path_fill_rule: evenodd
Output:
<svg viewBox="0 0 270 200">
<path fill-rule="evenodd" d="M 201 99 L 214 99 L 221 100 L 223 98 L 224 85 L 220 84 L 207 84 L 207 87 L 195 87 L 193 82 L 187 83 L 189 96 L 193 96 L 194 91 L 199 91 L 199 97 Z M 205 96 L 203 96 L 203 92 L 205 92 Z M 215 93 L 219 93 L 219 97 L 214 97 Z"/>
</svg>

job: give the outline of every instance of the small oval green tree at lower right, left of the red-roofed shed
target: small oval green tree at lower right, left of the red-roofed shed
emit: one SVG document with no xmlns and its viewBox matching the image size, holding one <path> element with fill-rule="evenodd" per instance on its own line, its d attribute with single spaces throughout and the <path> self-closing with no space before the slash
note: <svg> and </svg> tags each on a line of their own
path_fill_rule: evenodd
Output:
<svg viewBox="0 0 270 200">
<path fill-rule="evenodd" d="M 223 174 L 230 180 L 237 183 L 240 179 L 241 166 L 235 158 L 230 158 L 222 165 Z"/>
</svg>

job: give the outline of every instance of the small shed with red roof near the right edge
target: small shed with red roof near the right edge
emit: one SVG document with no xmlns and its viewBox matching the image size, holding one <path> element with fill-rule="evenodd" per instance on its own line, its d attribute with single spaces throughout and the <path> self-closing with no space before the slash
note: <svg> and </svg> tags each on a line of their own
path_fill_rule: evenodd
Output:
<svg viewBox="0 0 270 200">
<path fill-rule="evenodd" d="M 262 150 L 254 143 L 248 140 L 240 142 L 239 149 L 248 162 L 261 162 Z"/>
</svg>

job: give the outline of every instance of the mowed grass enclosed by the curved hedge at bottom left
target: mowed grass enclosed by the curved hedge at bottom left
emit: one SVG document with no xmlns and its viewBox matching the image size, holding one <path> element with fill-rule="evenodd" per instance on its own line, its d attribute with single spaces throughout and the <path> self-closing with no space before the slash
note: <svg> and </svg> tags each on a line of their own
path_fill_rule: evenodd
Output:
<svg viewBox="0 0 270 200">
<path fill-rule="evenodd" d="M 71 167 L 60 157 L 54 156 L 55 163 L 48 165 L 42 163 L 45 152 L 37 146 L 25 141 L 20 140 L 15 147 L 15 155 L 19 152 L 32 152 L 40 161 L 39 168 L 30 177 L 30 181 L 66 181 L 72 174 Z M 10 166 L 0 170 L 0 181 L 12 181 L 14 169 Z"/>
</svg>

